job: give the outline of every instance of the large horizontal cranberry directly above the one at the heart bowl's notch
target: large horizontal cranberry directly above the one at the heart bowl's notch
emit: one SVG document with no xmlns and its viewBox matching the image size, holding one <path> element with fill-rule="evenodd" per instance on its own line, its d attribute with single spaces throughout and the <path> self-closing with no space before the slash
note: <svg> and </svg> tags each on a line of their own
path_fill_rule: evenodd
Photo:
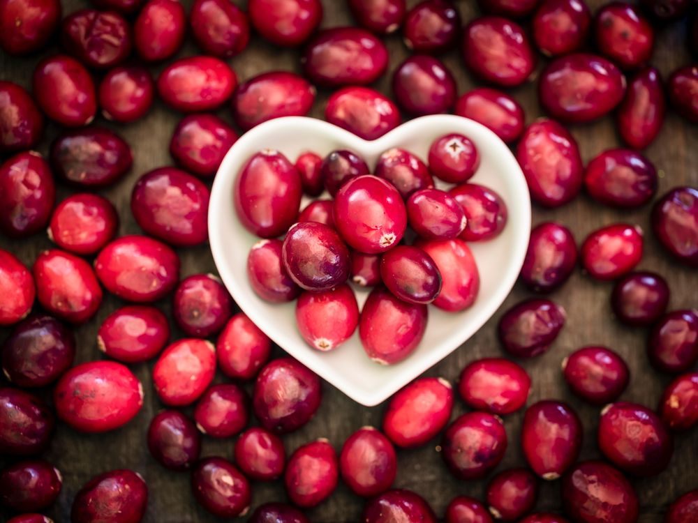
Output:
<svg viewBox="0 0 698 523">
<path fill-rule="evenodd" d="M 267 11 L 264 16 L 268 17 Z M 357 27 L 320 31 L 301 58 L 301 66 L 311 82 L 326 87 L 371 84 L 387 65 L 385 44 Z"/>
</svg>

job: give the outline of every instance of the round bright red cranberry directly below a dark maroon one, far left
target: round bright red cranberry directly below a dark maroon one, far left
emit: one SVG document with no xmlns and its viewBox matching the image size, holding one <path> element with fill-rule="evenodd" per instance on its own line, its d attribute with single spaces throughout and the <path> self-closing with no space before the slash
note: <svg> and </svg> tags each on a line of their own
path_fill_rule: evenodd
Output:
<svg viewBox="0 0 698 523">
<path fill-rule="evenodd" d="M 48 235 L 61 249 L 91 255 L 114 237 L 117 227 L 119 215 L 112 202 L 82 192 L 67 197 L 56 206 Z"/>
</svg>

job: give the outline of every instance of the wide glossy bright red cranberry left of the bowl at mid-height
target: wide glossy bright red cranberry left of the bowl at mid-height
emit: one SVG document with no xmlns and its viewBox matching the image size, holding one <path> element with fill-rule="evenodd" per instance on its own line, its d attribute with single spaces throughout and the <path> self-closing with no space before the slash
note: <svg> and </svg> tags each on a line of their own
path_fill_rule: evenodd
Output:
<svg viewBox="0 0 698 523">
<path fill-rule="evenodd" d="M 121 236 L 108 243 L 94 261 L 107 291 L 139 303 L 157 301 L 179 280 L 179 258 L 164 243 L 147 236 Z"/>
</svg>

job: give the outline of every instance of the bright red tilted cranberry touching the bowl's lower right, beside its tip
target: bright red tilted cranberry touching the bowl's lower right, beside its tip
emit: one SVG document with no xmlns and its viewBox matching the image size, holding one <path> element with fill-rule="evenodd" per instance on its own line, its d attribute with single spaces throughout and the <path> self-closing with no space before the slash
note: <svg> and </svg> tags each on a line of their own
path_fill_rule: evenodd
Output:
<svg viewBox="0 0 698 523">
<path fill-rule="evenodd" d="M 425 445 L 446 426 L 453 388 L 443 378 L 419 378 L 397 391 L 383 416 L 383 432 L 401 448 Z"/>
</svg>

